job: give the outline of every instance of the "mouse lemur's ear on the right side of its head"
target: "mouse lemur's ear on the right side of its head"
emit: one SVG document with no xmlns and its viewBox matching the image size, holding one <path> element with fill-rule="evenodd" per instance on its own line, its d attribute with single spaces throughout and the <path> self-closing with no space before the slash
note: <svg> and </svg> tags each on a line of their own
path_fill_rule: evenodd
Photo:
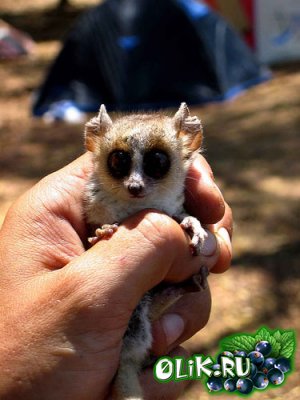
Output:
<svg viewBox="0 0 300 400">
<path fill-rule="evenodd" d="M 188 152 L 199 150 L 203 135 L 202 124 L 198 117 L 191 117 L 186 103 L 181 103 L 172 121 L 177 132 L 177 137 L 182 139 L 186 150 Z"/>
</svg>

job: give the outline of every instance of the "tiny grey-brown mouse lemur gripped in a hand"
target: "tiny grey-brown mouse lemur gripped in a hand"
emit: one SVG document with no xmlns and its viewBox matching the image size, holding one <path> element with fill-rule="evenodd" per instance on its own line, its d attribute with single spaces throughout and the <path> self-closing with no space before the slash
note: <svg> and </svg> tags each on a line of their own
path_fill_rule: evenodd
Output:
<svg viewBox="0 0 300 400">
<path fill-rule="evenodd" d="M 94 227 L 91 244 L 108 238 L 117 224 L 146 208 L 173 217 L 191 236 L 198 255 L 206 237 L 200 222 L 184 210 L 185 179 L 202 143 L 202 126 L 185 103 L 170 118 L 163 114 L 109 117 L 105 106 L 85 126 L 86 149 L 93 153 L 94 171 L 86 188 L 87 222 Z M 202 268 L 194 284 L 205 286 Z M 184 285 L 154 288 L 134 310 L 123 338 L 115 379 L 116 399 L 142 399 L 140 369 L 149 359 L 151 321 L 158 318 L 185 291 Z"/>
</svg>

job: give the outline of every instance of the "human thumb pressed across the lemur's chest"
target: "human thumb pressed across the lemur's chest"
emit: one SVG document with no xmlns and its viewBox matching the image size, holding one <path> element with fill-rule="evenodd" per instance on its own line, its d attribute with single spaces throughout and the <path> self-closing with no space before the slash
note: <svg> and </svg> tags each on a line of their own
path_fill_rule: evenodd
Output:
<svg viewBox="0 0 300 400">
<path fill-rule="evenodd" d="M 74 259 L 64 273 L 79 279 L 81 293 L 114 299 L 131 312 L 162 280 L 187 279 L 199 267 L 182 228 L 168 216 L 148 210 L 127 219 L 109 240 Z"/>
</svg>

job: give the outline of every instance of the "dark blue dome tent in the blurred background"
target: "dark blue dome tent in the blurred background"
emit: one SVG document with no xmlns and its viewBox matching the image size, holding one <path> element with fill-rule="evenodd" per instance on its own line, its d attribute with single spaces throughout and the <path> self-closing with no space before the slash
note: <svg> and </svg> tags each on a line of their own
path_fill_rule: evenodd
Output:
<svg viewBox="0 0 300 400">
<path fill-rule="evenodd" d="M 196 0 L 107 0 L 67 36 L 33 113 L 221 101 L 270 77 L 238 34 Z"/>
</svg>

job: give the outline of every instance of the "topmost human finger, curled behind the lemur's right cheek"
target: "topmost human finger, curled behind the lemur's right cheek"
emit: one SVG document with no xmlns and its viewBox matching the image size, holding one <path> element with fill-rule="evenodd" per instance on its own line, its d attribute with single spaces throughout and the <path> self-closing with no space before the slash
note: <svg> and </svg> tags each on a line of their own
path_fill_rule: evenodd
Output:
<svg viewBox="0 0 300 400">
<path fill-rule="evenodd" d="M 186 209 L 203 224 L 214 224 L 224 215 L 224 198 L 213 173 L 201 155 L 193 162 L 186 178 Z"/>
</svg>

